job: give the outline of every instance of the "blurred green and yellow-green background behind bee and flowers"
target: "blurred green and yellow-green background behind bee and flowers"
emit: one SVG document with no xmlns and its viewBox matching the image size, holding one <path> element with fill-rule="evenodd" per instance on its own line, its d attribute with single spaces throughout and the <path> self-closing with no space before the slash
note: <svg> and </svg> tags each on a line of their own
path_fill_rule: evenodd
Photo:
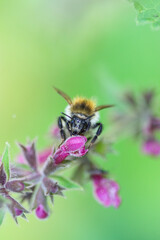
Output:
<svg viewBox="0 0 160 240">
<path fill-rule="evenodd" d="M 53 85 L 99 104 L 117 102 L 125 89 L 158 92 L 160 31 L 135 18 L 127 1 L 0 0 L 0 153 L 8 141 L 14 157 L 15 142 L 27 137 L 48 145 L 47 131 L 66 106 Z M 101 119 L 105 125 L 105 111 Z M 32 215 L 16 226 L 8 214 L 0 239 L 159 240 L 160 162 L 139 148 L 118 142 L 117 154 L 101 163 L 120 183 L 119 209 L 99 205 L 88 184 L 57 197 L 47 221 Z"/>
</svg>

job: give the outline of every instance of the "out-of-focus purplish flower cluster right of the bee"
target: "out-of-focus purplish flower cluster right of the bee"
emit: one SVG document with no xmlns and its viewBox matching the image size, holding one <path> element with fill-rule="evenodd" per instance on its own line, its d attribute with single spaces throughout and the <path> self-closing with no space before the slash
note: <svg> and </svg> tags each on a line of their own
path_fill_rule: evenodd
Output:
<svg viewBox="0 0 160 240">
<path fill-rule="evenodd" d="M 113 117 L 120 132 L 129 130 L 136 138 L 140 138 L 144 154 L 159 156 L 160 116 L 154 110 L 155 92 L 146 91 L 139 97 L 135 97 L 133 93 L 127 93 L 124 99 L 126 111 L 118 112 Z"/>
</svg>

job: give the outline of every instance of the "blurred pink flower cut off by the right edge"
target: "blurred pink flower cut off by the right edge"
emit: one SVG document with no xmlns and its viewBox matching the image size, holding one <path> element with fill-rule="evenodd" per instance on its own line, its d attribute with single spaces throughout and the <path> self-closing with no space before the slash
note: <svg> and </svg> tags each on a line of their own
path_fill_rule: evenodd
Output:
<svg viewBox="0 0 160 240">
<path fill-rule="evenodd" d="M 160 142 L 150 139 L 143 143 L 142 151 L 151 156 L 159 156 L 160 155 Z"/>
</svg>

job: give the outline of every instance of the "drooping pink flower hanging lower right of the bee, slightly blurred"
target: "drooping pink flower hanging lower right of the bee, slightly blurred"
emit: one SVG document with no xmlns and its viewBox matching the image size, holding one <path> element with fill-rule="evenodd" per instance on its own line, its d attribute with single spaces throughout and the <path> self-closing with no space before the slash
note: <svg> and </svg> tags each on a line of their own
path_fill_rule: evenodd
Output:
<svg viewBox="0 0 160 240">
<path fill-rule="evenodd" d="M 118 208 L 121 199 L 118 196 L 119 185 L 101 175 L 93 175 L 94 195 L 99 203 L 105 207 L 114 206 Z"/>
</svg>

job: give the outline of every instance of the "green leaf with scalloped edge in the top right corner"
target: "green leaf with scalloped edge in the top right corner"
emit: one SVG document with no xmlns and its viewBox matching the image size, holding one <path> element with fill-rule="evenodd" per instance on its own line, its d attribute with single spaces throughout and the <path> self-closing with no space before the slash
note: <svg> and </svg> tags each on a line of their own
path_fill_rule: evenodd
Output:
<svg viewBox="0 0 160 240">
<path fill-rule="evenodd" d="M 160 1 L 159 0 L 129 0 L 137 10 L 139 24 L 150 23 L 160 29 Z"/>
</svg>

